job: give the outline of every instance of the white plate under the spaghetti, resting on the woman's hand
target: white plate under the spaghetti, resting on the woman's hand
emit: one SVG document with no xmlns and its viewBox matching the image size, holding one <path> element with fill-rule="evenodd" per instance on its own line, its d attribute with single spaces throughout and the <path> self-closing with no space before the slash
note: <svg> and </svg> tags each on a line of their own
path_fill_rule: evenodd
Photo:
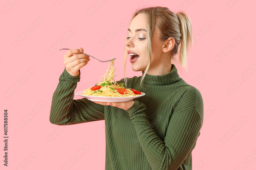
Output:
<svg viewBox="0 0 256 170">
<path fill-rule="evenodd" d="M 131 101 L 137 97 L 144 96 L 145 93 L 141 93 L 140 96 L 130 96 L 130 97 L 104 97 L 104 96 L 87 96 L 87 95 L 81 95 L 84 91 L 77 91 L 75 92 L 76 95 L 82 96 L 87 98 L 91 101 L 104 101 L 104 102 L 123 102 L 123 101 Z"/>
</svg>

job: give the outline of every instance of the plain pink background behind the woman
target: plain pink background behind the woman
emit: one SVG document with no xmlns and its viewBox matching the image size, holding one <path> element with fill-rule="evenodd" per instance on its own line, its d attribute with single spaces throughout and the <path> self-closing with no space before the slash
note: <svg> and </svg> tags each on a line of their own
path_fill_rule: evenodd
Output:
<svg viewBox="0 0 256 170">
<path fill-rule="evenodd" d="M 189 57 L 188 72 L 181 74 L 178 68 L 178 73 L 200 91 L 204 100 L 205 119 L 192 152 L 193 170 L 255 169 L 254 1 L 103 0 L 90 15 L 88 11 L 96 8 L 95 3 L 100 1 L 56 2 L 1 1 L 1 169 L 59 170 L 72 159 L 75 162 L 68 170 L 105 168 L 104 121 L 70 126 L 58 126 L 49 121 L 52 95 L 64 70 L 63 55 L 67 52 L 59 49 L 83 47 L 87 54 L 101 60 L 116 57 L 116 80 L 120 80 L 130 18 L 136 9 L 150 6 L 168 7 L 174 12 L 183 10 L 192 21 L 194 49 Z M 230 8 L 226 9 L 228 4 Z M 41 20 L 37 20 L 40 17 Z M 120 25 L 122 22 L 124 25 Z M 120 29 L 115 31 L 116 27 Z M 75 30 L 63 39 L 70 28 Z M 99 44 L 111 33 L 114 36 L 100 48 Z M 239 37 L 242 33 L 244 35 Z M 14 44 L 22 35 L 26 36 Z M 236 39 L 238 42 L 234 43 Z M 56 49 L 54 44 L 58 41 L 61 45 Z M 53 53 L 47 56 L 50 49 Z M 220 53 L 223 57 L 217 61 Z M 98 82 L 108 65 L 108 62 L 100 63 L 91 58 L 81 69 L 76 91 Z M 141 75 L 132 71 L 127 60 L 127 77 Z M 27 76 L 26 80 L 22 76 Z M 228 93 L 231 86 L 234 89 Z M 6 97 L 9 89 L 14 91 Z M 8 167 L 3 165 L 5 109 L 8 109 Z M 31 112 L 34 109 L 37 112 Z M 242 121 L 244 118 L 247 120 Z M 20 122 L 27 119 L 28 122 L 17 130 Z M 57 135 L 50 141 L 48 137 L 52 137 L 52 133 Z M 225 138 L 226 142 L 222 141 Z M 87 150 L 82 152 L 84 146 Z M 80 151 L 83 154 L 78 158 L 76 154 Z M 35 158 L 31 154 L 35 154 Z"/>
</svg>

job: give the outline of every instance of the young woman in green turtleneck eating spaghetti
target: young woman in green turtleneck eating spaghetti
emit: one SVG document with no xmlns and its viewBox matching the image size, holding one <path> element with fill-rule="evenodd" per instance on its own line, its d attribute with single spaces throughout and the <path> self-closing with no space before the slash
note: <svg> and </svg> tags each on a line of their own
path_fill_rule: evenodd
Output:
<svg viewBox="0 0 256 170">
<path fill-rule="evenodd" d="M 136 11 L 127 32 L 124 66 L 127 54 L 135 54 L 130 56 L 132 70 L 143 75 L 117 83 L 146 95 L 127 102 L 74 100 L 80 69 L 89 56 L 81 54 L 82 48 L 71 49 L 64 56 L 50 122 L 105 120 L 105 169 L 191 170 L 191 153 L 203 123 L 203 100 L 195 87 L 179 77 L 172 60 L 179 54 L 179 64 L 186 68 L 192 45 L 191 22 L 184 12 L 175 14 L 165 7 Z"/>
</svg>

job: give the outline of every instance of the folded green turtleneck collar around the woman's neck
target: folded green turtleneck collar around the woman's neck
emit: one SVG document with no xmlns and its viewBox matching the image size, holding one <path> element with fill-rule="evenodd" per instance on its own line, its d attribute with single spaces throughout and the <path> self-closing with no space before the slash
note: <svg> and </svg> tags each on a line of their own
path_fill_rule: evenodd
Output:
<svg viewBox="0 0 256 170">
<path fill-rule="evenodd" d="M 144 71 L 142 71 L 142 75 L 144 74 Z M 172 64 L 172 70 L 164 75 L 149 75 L 146 74 L 144 77 L 143 82 L 150 85 L 166 85 L 171 84 L 179 79 L 179 75 L 177 72 L 177 68 L 174 64 Z"/>
</svg>

